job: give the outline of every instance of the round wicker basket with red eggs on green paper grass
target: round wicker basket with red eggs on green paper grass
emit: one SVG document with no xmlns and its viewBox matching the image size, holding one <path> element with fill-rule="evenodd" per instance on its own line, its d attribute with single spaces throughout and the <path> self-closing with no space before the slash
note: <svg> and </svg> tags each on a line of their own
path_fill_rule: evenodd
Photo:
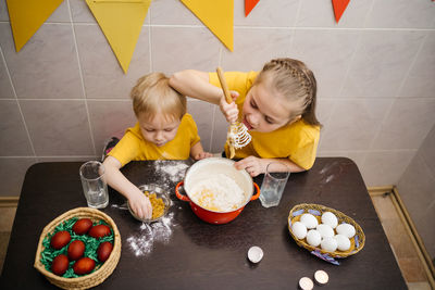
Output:
<svg viewBox="0 0 435 290">
<path fill-rule="evenodd" d="M 120 256 L 121 236 L 113 219 L 77 207 L 44 228 L 34 266 L 60 288 L 88 289 L 112 274 Z"/>
</svg>

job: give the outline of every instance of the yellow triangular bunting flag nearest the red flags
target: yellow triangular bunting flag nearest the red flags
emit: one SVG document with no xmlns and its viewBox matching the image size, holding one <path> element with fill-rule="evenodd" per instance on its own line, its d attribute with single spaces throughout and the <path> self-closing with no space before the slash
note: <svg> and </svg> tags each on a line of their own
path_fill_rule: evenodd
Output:
<svg viewBox="0 0 435 290">
<path fill-rule="evenodd" d="M 234 0 L 181 0 L 231 51 L 233 51 Z"/>
</svg>

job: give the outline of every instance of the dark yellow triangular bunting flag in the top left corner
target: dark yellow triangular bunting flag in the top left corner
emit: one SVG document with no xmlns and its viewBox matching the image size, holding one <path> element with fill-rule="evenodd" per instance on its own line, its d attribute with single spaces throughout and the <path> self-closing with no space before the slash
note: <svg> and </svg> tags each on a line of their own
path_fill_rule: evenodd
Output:
<svg viewBox="0 0 435 290">
<path fill-rule="evenodd" d="M 18 52 L 63 0 L 7 0 L 15 50 Z"/>
</svg>

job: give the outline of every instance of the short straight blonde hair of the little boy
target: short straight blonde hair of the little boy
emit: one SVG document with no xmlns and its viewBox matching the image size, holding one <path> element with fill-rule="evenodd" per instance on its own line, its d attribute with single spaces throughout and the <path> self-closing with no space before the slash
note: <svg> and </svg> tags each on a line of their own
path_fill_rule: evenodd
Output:
<svg viewBox="0 0 435 290">
<path fill-rule="evenodd" d="M 151 73 L 139 78 L 132 89 L 130 98 L 136 117 L 145 113 L 148 118 L 163 114 L 181 119 L 186 114 L 186 97 L 174 90 L 162 73 Z"/>
</svg>

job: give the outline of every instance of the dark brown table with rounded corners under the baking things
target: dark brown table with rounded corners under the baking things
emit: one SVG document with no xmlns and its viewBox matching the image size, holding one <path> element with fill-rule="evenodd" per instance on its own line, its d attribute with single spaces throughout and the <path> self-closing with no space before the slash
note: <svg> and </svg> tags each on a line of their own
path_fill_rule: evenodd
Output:
<svg viewBox="0 0 435 290">
<path fill-rule="evenodd" d="M 86 206 L 80 164 L 39 163 L 27 171 L 0 289 L 54 288 L 33 267 L 34 257 L 47 224 L 69 210 Z M 260 201 L 251 201 L 226 225 L 200 220 L 187 202 L 175 197 L 176 180 L 157 174 L 156 162 L 133 162 L 123 172 L 136 185 L 164 181 L 170 188 L 172 232 L 167 239 L 154 241 L 148 253 L 136 256 L 128 238 L 144 234 L 141 223 L 116 207 L 124 199 L 110 189 L 110 204 L 102 211 L 120 229 L 122 254 L 113 274 L 98 288 L 297 289 L 301 277 L 324 269 L 330 282 L 323 289 L 407 289 L 361 174 L 349 159 L 319 157 L 311 171 L 290 175 L 277 207 L 264 209 Z M 259 185 L 261 180 L 262 176 L 254 178 Z M 323 204 L 352 217 L 364 230 L 364 249 L 336 266 L 299 248 L 287 229 L 288 213 L 299 203 Z M 246 257 L 251 245 L 264 251 L 257 265 Z"/>
</svg>

